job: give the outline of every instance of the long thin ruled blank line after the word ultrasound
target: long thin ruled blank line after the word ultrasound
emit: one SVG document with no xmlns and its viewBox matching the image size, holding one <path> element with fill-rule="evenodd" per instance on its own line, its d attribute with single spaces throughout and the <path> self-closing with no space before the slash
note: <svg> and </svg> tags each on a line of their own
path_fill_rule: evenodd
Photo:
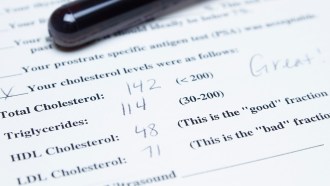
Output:
<svg viewBox="0 0 330 186">
<path fill-rule="evenodd" d="M 273 158 L 277 158 L 277 157 L 281 157 L 281 156 L 286 156 L 286 155 L 290 155 L 290 154 L 294 154 L 294 153 L 298 153 L 298 152 L 302 152 L 302 151 L 306 151 L 306 150 L 311 150 L 311 149 L 318 148 L 318 147 L 323 147 L 323 146 L 324 146 L 324 144 L 315 145 L 315 146 L 311 146 L 311 147 L 307 147 L 307 148 L 303 148 L 303 149 L 299 149 L 299 150 L 294 150 L 294 151 L 290 151 L 290 152 L 286 152 L 286 153 L 282 153 L 282 154 L 277 154 L 277 155 L 273 155 L 273 156 L 268 156 L 268 157 L 265 157 L 265 158 L 260 158 L 260 159 L 256 159 L 256 160 L 252 160 L 252 161 L 246 161 L 246 162 L 242 162 L 242 163 L 238 163 L 238 164 L 228 165 L 228 166 L 220 167 L 220 168 L 217 168 L 217 169 L 211 169 L 211 170 L 196 172 L 196 173 L 192 173 L 192 174 L 187 174 L 185 176 L 182 176 L 182 178 L 188 178 L 188 177 L 198 176 L 198 175 L 206 174 L 206 173 L 210 173 L 210 172 L 235 168 L 235 167 L 239 167 L 239 166 L 243 166 L 243 165 L 247 165 L 247 164 L 251 164 L 251 163 L 256 163 L 256 162 L 259 162 L 259 161 L 269 160 L 269 159 L 273 159 Z"/>
</svg>

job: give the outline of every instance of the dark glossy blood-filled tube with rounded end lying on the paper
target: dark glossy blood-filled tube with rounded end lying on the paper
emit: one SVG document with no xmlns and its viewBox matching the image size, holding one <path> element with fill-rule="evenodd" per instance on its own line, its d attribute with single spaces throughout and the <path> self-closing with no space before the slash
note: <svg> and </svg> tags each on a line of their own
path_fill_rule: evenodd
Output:
<svg viewBox="0 0 330 186">
<path fill-rule="evenodd" d="M 166 2 L 166 1 L 165 1 Z M 54 43 L 72 48 L 151 18 L 162 0 L 78 0 L 53 12 L 48 23 Z"/>
</svg>

